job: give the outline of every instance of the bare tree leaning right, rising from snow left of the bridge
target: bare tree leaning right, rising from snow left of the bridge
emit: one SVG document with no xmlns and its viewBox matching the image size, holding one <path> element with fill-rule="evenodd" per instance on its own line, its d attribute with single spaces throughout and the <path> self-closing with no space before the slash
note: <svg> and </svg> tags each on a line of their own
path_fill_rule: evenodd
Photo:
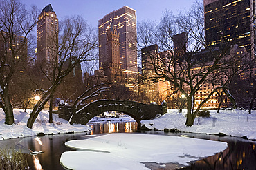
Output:
<svg viewBox="0 0 256 170">
<path fill-rule="evenodd" d="M 59 25 L 59 30 L 55 33 L 52 42 L 54 45 L 51 45 L 53 52 L 51 63 L 54 63 L 54 67 L 51 70 L 53 73 L 51 86 L 43 92 L 42 100 L 39 100 L 31 111 L 27 123 L 29 128 L 32 128 L 39 112 L 44 109 L 44 105 L 53 96 L 63 78 L 73 70 L 75 65 L 93 59 L 93 50 L 97 47 L 97 36 L 82 17 L 66 17 Z"/>
</svg>

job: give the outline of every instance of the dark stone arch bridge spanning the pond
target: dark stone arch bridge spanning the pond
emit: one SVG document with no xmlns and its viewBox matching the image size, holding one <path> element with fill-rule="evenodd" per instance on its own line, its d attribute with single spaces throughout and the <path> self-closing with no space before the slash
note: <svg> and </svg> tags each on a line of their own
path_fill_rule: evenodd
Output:
<svg viewBox="0 0 256 170">
<path fill-rule="evenodd" d="M 71 109 L 72 107 L 68 106 L 59 107 L 59 117 L 71 120 L 71 124 L 80 123 L 86 125 L 89 120 L 104 111 L 120 111 L 134 118 L 140 127 L 141 120 L 149 120 L 155 118 L 158 114 L 167 113 L 167 103 L 163 102 L 161 105 L 154 105 L 131 100 L 95 100 L 81 107 L 73 116 Z"/>
</svg>

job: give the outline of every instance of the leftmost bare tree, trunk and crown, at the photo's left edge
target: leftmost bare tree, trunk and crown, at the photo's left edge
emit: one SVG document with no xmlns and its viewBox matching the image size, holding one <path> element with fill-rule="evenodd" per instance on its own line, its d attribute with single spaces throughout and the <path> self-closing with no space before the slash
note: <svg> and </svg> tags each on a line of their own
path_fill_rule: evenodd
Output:
<svg viewBox="0 0 256 170">
<path fill-rule="evenodd" d="M 0 1 L 0 106 L 6 114 L 5 123 L 14 123 L 10 102 L 10 81 L 27 59 L 30 32 L 37 23 L 35 7 L 28 10 L 19 0 Z"/>
</svg>

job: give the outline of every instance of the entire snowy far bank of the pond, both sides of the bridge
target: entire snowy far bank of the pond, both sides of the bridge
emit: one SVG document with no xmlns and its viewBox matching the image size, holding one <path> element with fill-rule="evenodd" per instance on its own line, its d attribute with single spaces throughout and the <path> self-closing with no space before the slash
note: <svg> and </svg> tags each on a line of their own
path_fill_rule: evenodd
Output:
<svg viewBox="0 0 256 170">
<path fill-rule="evenodd" d="M 29 111 L 28 111 L 29 113 Z M 35 120 L 32 129 L 26 127 L 29 114 L 22 109 L 14 109 L 15 124 L 4 124 L 4 113 L 0 109 L 0 140 L 8 138 L 20 138 L 25 136 L 35 136 L 37 133 L 58 134 L 68 132 L 88 131 L 90 127 L 85 125 L 69 125 L 68 121 L 59 118 L 57 114 L 53 114 L 53 124 L 48 123 L 48 112 L 42 111 Z M 228 136 L 243 137 L 256 140 L 256 110 L 252 114 L 244 110 L 221 110 L 210 111 L 210 118 L 196 118 L 192 127 L 186 127 L 185 124 L 186 111 L 182 114 L 176 109 L 168 109 L 168 113 L 154 120 L 143 120 L 142 125 L 149 129 L 177 129 L 184 132 L 203 133 L 203 134 L 219 134 L 223 133 Z M 122 116 L 120 118 L 109 118 L 109 121 L 131 121 L 131 117 Z M 104 118 L 93 118 L 90 123 L 102 122 Z"/>
</svg>

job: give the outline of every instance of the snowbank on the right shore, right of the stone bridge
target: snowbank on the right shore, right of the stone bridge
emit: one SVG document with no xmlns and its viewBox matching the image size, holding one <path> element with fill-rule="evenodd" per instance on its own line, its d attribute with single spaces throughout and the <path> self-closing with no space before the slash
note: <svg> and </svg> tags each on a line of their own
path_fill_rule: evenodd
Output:
<svg viewBox="0 0 256 170">
<path fill-rule="evenodd" d="M 256 111 L 252 114 L 244 110 L 221 110 L 217 114 L 216 110 L 210 111 L 210 118 L 197 117 L 192 127 L 186 127 L 185 115 L 186 110 L 182 114 L 174 109 L 168 109 L 168 113 L 154 120 L 143 120 L 149 129 L 178 129 L 183 132 L 194 132 L 203 134 L 219 134 L 223 133 L 228 136 L 243 137 L 248 139 L 256 139 Z"/>
</svg>

